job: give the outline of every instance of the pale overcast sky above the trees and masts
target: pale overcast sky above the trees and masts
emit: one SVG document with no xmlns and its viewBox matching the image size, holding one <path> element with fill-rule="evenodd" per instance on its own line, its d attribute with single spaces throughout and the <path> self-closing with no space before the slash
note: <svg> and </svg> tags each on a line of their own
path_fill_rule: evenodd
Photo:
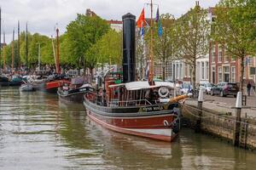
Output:
<svg viewBox="0 0 256 170">
<path fill-rule="evenodd" d="M 213 7 L 218 0 L 199 0 L 203 8 Z M 20 20 L 20 31 L 28 29 L 47 36 L 55 35 L 55 24 L 58 23 L 61 34 L 77 14 L 84 14 L 90 8 L 106 20 L 121 20 L 122 15 L 130 12 L 137 17 L 145 7 L 146 17 L 149 8 L 145 3 L 150 0 L 0 0 L 2 8 L 2 32 L 6 32 L 6 42 L 12 39 L 12 31 L 17 33 L 17 22 Z M 160 14 L 170 13 L 176 18 L 195 6 L 195 0 L 154 0 L 160 7 Z M 15 36 L 17 38 L 17 35 Z M 2 37 L 3 42 L 3 37 Z"/>
</svg>

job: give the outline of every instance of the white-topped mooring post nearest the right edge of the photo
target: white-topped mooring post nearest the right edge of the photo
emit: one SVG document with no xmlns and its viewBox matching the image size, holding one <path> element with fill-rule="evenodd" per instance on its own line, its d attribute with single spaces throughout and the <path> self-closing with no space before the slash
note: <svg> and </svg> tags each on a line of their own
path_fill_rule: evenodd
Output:
<svg viewBox="0 0 256 170">
<path fill-rule="evenodd" d="M 234 123 L 233 145 L 239 146 L 239 135 L 241 127 L 241 92 L 236 96 L 236 122 Z"/>
</svg>

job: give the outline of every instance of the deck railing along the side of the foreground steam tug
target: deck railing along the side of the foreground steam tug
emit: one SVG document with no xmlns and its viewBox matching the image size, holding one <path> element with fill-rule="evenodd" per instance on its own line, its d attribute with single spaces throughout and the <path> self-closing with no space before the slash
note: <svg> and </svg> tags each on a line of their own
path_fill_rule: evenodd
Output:
<svg viewBox="0 0 256 170">
<path fill-rule="evenodd" d="M 148 99 L 132 99 L 132 100 L 121 100 L 119 99 L 112 100 L 111 102 L 108 102 L 109 106 L 129 106 L 129 105 L 152 105 Z"/>
</svg>

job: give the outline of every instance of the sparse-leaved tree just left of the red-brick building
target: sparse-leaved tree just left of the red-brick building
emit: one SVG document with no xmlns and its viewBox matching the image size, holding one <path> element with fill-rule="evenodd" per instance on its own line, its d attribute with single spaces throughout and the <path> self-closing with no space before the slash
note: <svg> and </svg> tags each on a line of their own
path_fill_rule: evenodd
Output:
<svg viewBox="0 0 256 170">
<path fill-rule="evenodd" d="M 200 59 L 208 53 L 210 24 L 207 20 L 207 10 L 195 5 L 195 8 L 191 8 L 177 22 L 179 37 L 177 56 L 190 66 L 191 82 L 195 89 L 196 59 Z"/>
</svg>

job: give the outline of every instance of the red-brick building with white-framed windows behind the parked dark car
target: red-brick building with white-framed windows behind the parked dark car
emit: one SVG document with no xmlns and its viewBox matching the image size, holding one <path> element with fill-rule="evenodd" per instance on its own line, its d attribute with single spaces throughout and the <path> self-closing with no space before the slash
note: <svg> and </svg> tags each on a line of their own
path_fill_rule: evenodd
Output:
<svg viewBox="0 0 256 170">
<path fill-rule="evenodd" d="M 216 8 L 208 8 L 208 18 L 214 22 Z M 255 70 L 256 58 L 252 56 L 245 57 L 245 73 L 243 79 L 256 82 Z M 235 59 L 227 54 L 224 44 L 218 42 L 209 42 L 209 65 L 210 82 L 240 82 L 241 77 L 241 59 Z"/>
</svg>

